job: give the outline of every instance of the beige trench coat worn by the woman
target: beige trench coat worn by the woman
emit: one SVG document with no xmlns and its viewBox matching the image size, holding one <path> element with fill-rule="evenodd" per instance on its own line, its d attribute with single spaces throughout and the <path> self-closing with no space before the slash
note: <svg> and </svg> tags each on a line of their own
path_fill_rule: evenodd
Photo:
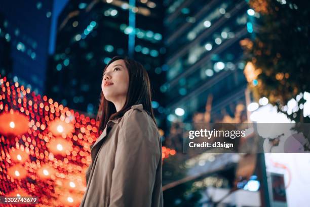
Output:
<svg viewBox="0 0 310 207">
<path fill-rule="evenodd" d="M 108 121 L 91 157 L 80 207 L 163 206 L 160 134 L 142 104 Z"/>
</svg>

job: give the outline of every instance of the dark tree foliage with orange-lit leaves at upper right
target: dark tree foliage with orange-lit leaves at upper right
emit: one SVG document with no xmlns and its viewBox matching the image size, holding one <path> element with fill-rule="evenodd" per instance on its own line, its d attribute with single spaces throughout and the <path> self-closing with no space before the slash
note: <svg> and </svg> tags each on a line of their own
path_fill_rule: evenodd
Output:
<svg viewBox="0 0 310 207">
<path fill-rule="evenodd" d="M 244 40 L 242 45 L 254 97 L 265 96 L 290 119 L 309 122 L 303 116 L 302 94 L 310 91 L 310 2 L 250 0 L 250 7 L 260 15 L 258 32 L 253 41 Z M 292 98 L 298 108 L 293 113 L 285 107 Z"/>
</svg>

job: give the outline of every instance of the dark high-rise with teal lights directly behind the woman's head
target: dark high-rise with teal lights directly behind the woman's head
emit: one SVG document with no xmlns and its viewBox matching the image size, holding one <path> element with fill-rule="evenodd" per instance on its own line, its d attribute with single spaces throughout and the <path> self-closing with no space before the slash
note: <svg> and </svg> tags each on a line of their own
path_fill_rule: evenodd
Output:
<svg viewBox="0 0 310 207">
<path fill-rule="evenodd" d="M 129 56 L 148 71 L 153 107 L 163 113 L 162 10 L 160 1 L 69 1 L 58 18 L 46 93 L 65 106 L 96 114 L 104 66 L 113 56 Z"/>
</svg>

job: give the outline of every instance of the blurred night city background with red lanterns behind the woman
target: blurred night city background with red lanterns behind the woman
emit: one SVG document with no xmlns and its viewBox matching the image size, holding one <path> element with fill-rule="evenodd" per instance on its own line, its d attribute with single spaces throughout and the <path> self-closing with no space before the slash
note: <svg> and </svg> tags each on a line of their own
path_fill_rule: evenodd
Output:
<svg viewBox="0 0 310 207">
<path fill-rule="evenodd" d="M 308 154 L 183 154 L 182 133 L 185 122 L 309 122 L 309 9 L 289 0 L 1 1 L 0 195 L 79 205 L 100 135 L 100 77 L 126 55 L 151 79 L 165 206 L 308 206 Z"/>
</svg>

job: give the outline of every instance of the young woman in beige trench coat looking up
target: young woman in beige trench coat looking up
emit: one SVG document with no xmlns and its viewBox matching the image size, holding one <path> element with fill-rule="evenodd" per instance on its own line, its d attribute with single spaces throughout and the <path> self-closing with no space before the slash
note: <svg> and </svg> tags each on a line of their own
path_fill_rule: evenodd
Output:
<svg viewBox="0 0 310 207">
<path fill-rule="evenodd" d="M 163 206 L 162 145 L 147 72 L 135 60 L 114 57 L 101 88 L 103 132 L 91 146 L 80 206 Z"/>
</svg>

